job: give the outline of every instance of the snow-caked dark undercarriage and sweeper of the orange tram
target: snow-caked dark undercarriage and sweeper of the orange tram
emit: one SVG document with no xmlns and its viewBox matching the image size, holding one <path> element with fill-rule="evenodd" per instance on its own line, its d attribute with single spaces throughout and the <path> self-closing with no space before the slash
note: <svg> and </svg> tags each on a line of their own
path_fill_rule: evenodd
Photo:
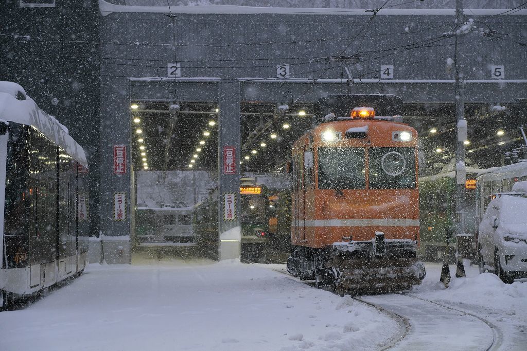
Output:
<svg viewBox="0 0 527 351">
<path fill-rule="evenodd" d="M 340 292 L 406 290 L 421 284 L 425 269 L 413 240 L 338 242 L 325 249 L 297 246 L 287 270 L 301 280 L 316 280 Z"/>
</svg>

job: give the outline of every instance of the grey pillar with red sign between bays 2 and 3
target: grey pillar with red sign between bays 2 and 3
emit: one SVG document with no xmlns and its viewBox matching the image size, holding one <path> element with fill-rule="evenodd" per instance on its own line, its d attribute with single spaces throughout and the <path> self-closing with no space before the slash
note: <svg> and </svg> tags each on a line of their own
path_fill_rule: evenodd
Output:
<svg viewBox="0 0 527 351">
<path fill-rule="evenodd" d="M 218 229 L 220 260 L 240 258 L 240 83 L 220 82 L 218 84 Z M 227 147 L 227 148 L 226 148 Z M 229 147 L 235 148 L 233 169 L 225 167 Z M 227 174 L 233 173 L 233 174 Z M 226 219 L 226 197 L 232 203 L 235 213 Z M 229 206 L 227 204 L 227 206 Z"/>
</svg>

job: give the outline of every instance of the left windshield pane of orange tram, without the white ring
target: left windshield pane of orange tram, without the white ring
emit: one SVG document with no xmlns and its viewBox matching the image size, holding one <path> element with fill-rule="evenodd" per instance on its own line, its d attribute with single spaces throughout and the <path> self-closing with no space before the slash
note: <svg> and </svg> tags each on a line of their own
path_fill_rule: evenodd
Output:
<svg viewBox="0 0 527 351">
<path fill-rule="evenodd" d="M 318 148 L 318 189 L 365 189 L 364 148 Z"/>
</svg>

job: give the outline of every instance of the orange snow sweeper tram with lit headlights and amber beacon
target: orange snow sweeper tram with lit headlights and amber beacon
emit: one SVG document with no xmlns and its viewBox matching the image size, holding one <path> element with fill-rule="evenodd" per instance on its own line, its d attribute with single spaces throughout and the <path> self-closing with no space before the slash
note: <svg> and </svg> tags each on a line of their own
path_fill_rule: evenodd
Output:
<svg viewBox="0 0 527 351">
<path fill-rule="evenodd" d="M 288 271 L 340 291 L 407 289 L 417 261 L 417 132 L 395 95 L 330 95 L 292 147 Z"/>
</svg>

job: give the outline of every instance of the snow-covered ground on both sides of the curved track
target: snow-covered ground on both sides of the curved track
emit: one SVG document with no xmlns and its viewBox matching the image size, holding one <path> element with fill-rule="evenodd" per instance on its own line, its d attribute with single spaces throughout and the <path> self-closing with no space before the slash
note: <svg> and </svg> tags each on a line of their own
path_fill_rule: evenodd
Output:
<svg viewBox="0 0 527 351">
<path fill-rule="evenodd" d="M 500 328 L 500 349 L 525 349 L 527 283 L 505 285 L 476 267 L 455 278 L 451 266 L 445 289 L 438 282 L 441 265 L 426 269 L 411 295 L 481 316 Z M 284 266 L 91 265 L 32 306 L 0 313 L 0 349 L 363 350 L 380 349 L 402 333 L 396 320 L 373 307 L 278 270 Z"/>
</svg>

